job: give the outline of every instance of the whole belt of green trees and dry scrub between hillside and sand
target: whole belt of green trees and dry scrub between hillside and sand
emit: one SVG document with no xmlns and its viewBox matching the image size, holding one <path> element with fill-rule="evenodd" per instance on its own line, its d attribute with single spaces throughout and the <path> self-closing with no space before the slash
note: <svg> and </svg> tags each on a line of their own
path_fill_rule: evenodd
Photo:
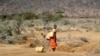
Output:
<svg viewBox="0 0 100 56">
<path fill-rule="evenodd" d="M 35 13 L 20 13 L 20 14 L 11 14 L 11 15 L 0 15 L 0 42 L 3 43 L 16 43 L 21 42 L 25 36 L 29 36 L 29 34 L 21 34 L 21 31 L 26 31 L 25 29 L 35 26 L 35 30 L 41 31 L 44 29 L 51 29 L 51 25 L 53 23 L 58 23 L 59 28 L 58 31 L 67 31 L 71 29 L 71 27 L 78 29 L 80 27 L 82 29 L 86 29 L 86 31 L 100 31 L 100 20 L 86 20 L 83 19 L 64 19 L 63 12 L 44 12 L 41 14 Z M 41 20 L 41 21 L 35 21 Z M 61 21 L 60 21 L 61 20 Z M 53 23 L 51 23 L 53 22 Z M 90 25 L 91 24 L 91 25 Z M 40 25 L 38 27 L 38 25 Z M 63 27 L 62 27 L 63 26 Z M 79 29 L 80 29 L 79 28 Z M 30 34 L 31 35 L 31 34 Z"/>
</svg>

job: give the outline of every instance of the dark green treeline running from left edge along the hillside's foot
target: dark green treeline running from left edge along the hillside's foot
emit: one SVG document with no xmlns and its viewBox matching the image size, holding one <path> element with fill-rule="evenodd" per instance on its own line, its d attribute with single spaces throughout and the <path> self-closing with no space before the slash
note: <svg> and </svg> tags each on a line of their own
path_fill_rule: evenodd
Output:
<svg viewBox="0 0 100 56">
<path fill-rule="evenodd" d="M 10 15 L 0 15 L 0 20 L 12 20 L 12 19 L 21 19 L 21 20 L 30 20 L 30 19 L 43 19 L 43 20 L 49 20 L 49 21 L 55 21 L 58 19 L 61 19 L 65 17 L 63 15 L 63 12 L 44 12 L 40 14 L 36 13 L 20 13 L 20 14 L 10 14 Z"/>
</svg>

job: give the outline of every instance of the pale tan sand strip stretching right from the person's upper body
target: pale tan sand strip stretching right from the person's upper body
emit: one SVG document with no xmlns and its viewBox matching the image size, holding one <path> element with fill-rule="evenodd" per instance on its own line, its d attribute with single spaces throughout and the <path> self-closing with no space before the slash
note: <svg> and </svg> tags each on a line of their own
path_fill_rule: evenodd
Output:
<svg viewBox="0 0 100 56">
<path fill-rule="evenodd" d="M 70 36 L 69 36 L 70 35 Z M 68 32 L 58 32 L 57 33 L 58 38 L 69 38 L 72 39 L 85 37 L 91 42 L 100 42 L 100 32 L 79 32 L 79 31 L 68 31 Z"/>
</svg>

